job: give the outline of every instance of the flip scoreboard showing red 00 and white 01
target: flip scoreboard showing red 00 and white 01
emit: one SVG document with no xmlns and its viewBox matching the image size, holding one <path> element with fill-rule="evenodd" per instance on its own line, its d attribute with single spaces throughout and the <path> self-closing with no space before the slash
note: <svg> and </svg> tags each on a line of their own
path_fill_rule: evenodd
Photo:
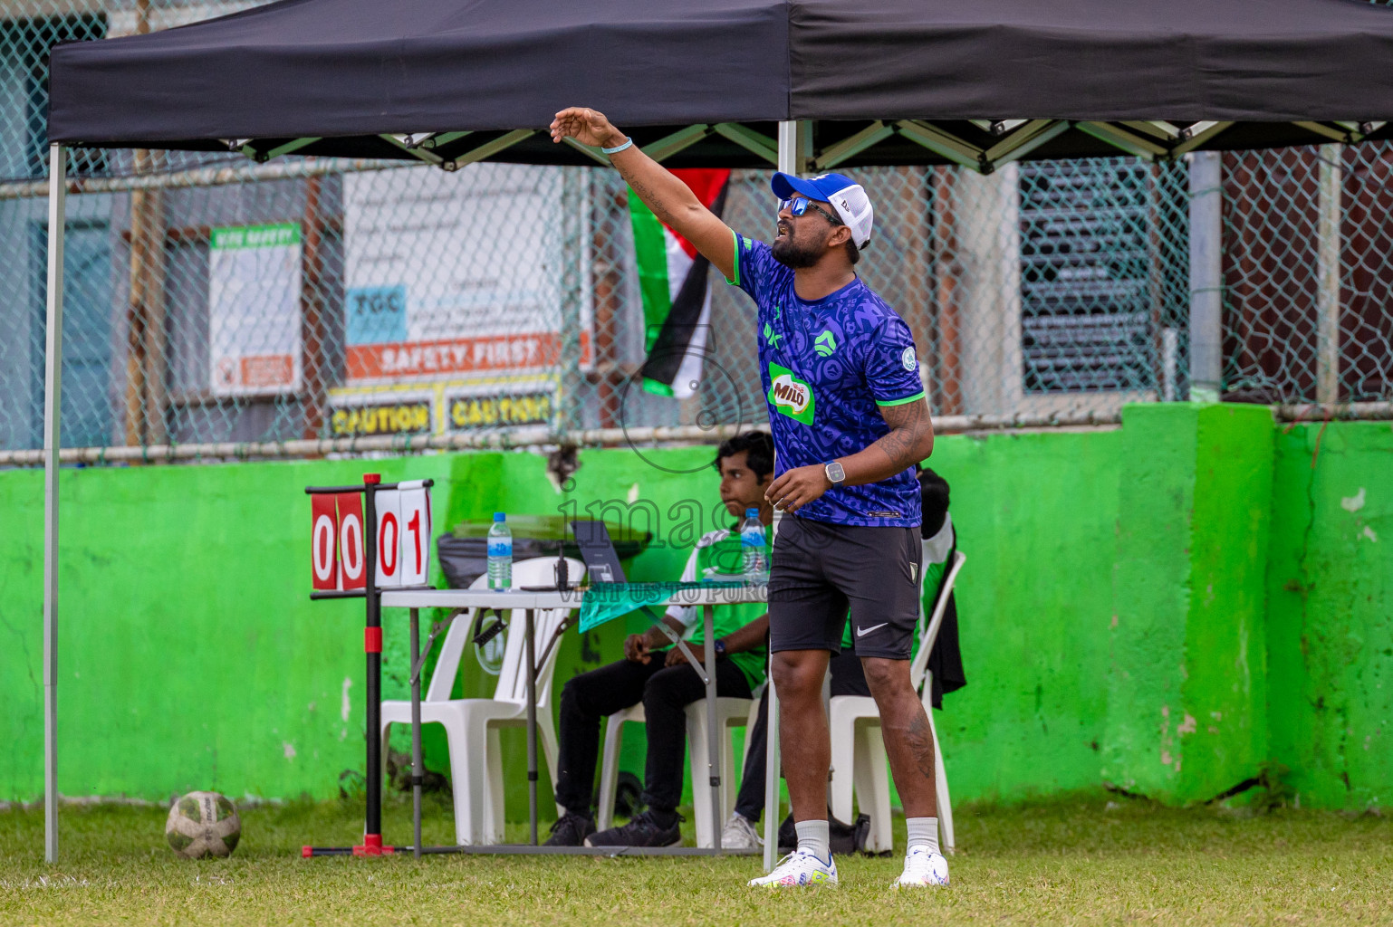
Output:
<svg viewBox="0 0 1393 927">
<path fill-rule="evenodd" d="M 311 573 L 320 592 L 368 585 L 362 491 L 373 494 L 373 585 L 423 586 L 430 565 L 430 490 L 422 480 L 390 489 L 311 496 Z"/>
</svg>

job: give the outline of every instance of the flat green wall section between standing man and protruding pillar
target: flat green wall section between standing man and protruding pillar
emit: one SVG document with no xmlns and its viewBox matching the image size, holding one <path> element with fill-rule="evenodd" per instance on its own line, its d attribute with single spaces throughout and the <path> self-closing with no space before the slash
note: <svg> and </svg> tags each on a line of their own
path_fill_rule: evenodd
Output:
<svg viewBox="0 0 1393 927">
<path fill-rule="evenodd" d="M 1096 788 L 1121 431 L 947 437 L 968 685 L 936 718 L 954 800 Z"/>
</svg>

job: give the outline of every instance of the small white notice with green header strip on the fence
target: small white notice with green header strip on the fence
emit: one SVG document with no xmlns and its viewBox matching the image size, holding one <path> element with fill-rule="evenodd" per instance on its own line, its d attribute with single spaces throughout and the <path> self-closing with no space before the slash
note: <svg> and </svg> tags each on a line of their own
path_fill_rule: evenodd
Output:
<svg viewBox="0 0 1393 927">
<path fill-rule="evenodd" d="M 299 388 L 299 225 L 213 230 L 208 252 L 213 395 Z"/>
</svg>

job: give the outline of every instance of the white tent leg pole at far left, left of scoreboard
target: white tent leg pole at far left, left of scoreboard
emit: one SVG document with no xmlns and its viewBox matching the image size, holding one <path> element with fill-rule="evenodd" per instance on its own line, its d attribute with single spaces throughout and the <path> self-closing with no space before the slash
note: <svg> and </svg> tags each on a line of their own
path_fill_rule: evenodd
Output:
<svg viewBox="0 0 1393 927">
<path fill-rule="evenodd" d="M 59 448 L 63 409 L 65 157 L 49 148 L 49 277 L 43 351 L 43 859 L 59 862 Z"/>
</svg>

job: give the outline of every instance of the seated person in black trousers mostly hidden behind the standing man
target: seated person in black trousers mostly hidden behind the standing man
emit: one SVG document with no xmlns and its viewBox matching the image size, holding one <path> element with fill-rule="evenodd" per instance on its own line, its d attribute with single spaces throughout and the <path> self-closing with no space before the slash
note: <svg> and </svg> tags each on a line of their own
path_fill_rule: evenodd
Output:
<svg viewBox="0 0 1393 927">
<path fill-rule="evenodd" d="M 919 501 L 924 507 L 924 522 L 921 534 L 929 541 L 924 558 L 924 607 L 925 614 L 932 614 L 933 603 L 937 600 L 937 590 L 947 573 L 953 551 L 957 550 L 957 534 L 953 532 L 953 519 L 949 516 L 949 484 L 942 476 L 922 468 L 919 477 Z M 759 625 L 759 628 L 755 628 Z M 751 625 L 758 633 L 768 633 L 769 618 L 758 619 Z M 919 636 L 915 632 L 914 647 L 918 650 Z M 929 654 L 929 671 L 933 674 L 933 707 L 943 707 L 943 693 L 953 692 L 965 685 L 963 676 L 963 658 L 958 653 L 957 610 L 951 600 L 943 614 L 943 624 L 939 625 L 939 636 L 933 643 L 933 653 Z M 851 625 L 841 637 L 841 653 L 827 663 L 827 672 L 832 676 L 832 695 L 869 696 L 871 688 L 866 685 L 861 660 L 855 654 L 855 640 L 851 636 Z M 726 827 L 720 834 L 723 849 L 758 849 L 761 845 L 755 825 L 765 810 L 765 753 L 768 749 L 766 731 L 769 725 L 769 690 L 759 702 L 759 715 L 754 729 L 745 735 L 745 768 L 740 779 L 740 795 L 736 796 L 736 810 L 731 811 Z"/>
</svg>

